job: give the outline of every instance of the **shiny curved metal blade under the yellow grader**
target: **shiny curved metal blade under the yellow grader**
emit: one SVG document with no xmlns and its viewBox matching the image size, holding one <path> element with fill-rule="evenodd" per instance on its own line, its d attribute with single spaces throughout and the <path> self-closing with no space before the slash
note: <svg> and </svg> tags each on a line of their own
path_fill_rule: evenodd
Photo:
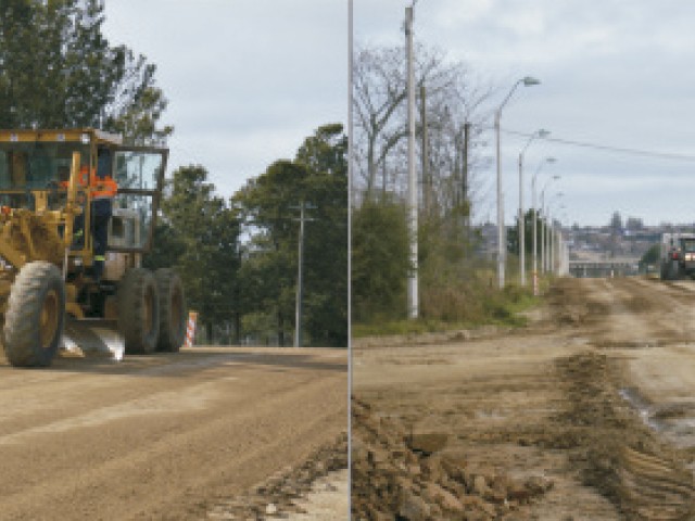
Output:
<svg viewBox="0 0 695 521">
<path fill-rule="evenodd" d="M 63 348 L 73 354 L 109 356 L 114 360 L 121 360 L 125 343 L 118 334 L 115 320 L 67 318 Z"/>
</svg>

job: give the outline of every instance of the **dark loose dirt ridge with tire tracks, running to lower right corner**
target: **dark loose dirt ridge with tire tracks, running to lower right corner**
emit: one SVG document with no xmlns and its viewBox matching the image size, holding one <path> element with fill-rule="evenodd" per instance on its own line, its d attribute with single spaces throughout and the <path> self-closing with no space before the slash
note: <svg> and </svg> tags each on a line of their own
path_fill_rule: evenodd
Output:
<svg viewBox="0 0 695 521">
<path fill-rule="evenodd" d="M 557 442 L 570 448 L 584 482 L 627 519 L 692 520 L 695 487 L 685 455 L 660 442 L 620 397 L 620 364 L 595 351 L 557 360 L 567 394 Z"/>
</svg>

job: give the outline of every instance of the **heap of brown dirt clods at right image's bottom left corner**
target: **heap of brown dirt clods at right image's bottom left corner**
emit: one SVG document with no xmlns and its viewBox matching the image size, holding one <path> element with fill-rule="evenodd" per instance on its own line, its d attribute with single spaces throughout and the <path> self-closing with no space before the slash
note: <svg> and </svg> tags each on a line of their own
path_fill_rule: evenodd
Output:
<svg viewBox="0 0 695 521">
<path fill-rule="evenodd" d="M 412 436 L 393 418 L 352 401 L 352 512 L 355 521 L 525 519 L 520 507 L 553 482 L 473 473 L 441 452 L 446 436 Z"/>
</svg>

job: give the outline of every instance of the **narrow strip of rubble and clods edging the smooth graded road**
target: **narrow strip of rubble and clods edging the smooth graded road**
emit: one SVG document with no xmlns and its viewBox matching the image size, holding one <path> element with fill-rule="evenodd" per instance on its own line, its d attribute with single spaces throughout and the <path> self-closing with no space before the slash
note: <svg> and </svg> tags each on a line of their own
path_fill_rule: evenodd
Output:
<svg viewBox="0 0 695 521">
<path fill-rule="evenodd" d="M 285 469 L 247 494 L 218 501 L 204 519 L 262 521 L 303 512 L 300 499 L 330 472 L 348 468 L 348 435 L 321 447 L 296 468 Z"/>
</svg>

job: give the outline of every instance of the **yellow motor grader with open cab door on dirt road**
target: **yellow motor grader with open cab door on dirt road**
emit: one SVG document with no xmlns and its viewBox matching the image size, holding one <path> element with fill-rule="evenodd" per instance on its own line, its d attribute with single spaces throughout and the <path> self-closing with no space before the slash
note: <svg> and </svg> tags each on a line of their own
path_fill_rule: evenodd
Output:
<svg viewBox="0 0 695 521">
<path fill-rule="evenodd" d="M 182 345 L 180 278 L 141 266 L 167 155 L 91 128 L 0 130 L 1 339 L 13 366 L 48 366 L 60 348 L 121 358 Z M 97 270 L 86 174 L 100 170 L 118 190 Z"/>
</svg>

